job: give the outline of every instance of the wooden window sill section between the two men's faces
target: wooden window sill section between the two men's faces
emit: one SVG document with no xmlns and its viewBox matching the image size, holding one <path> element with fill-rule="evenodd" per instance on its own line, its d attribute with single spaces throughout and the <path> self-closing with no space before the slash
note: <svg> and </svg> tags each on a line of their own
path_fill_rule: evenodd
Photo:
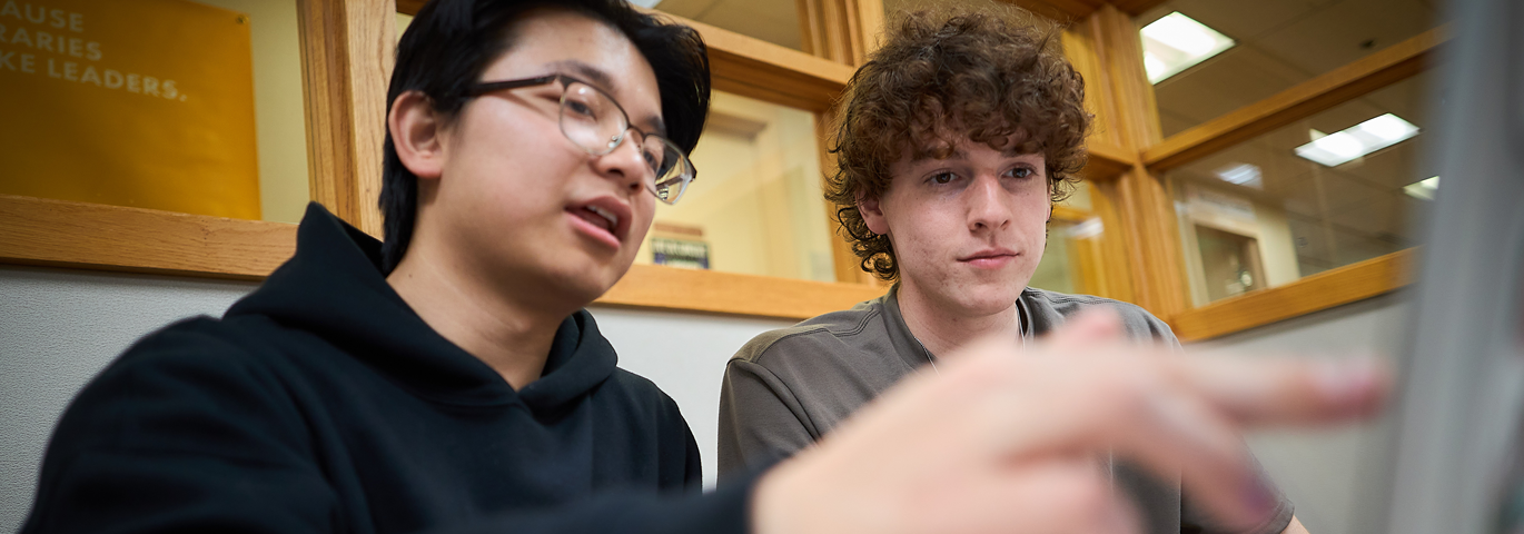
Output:
<svg viewBox="0 0 1524 534">
<path fill-rule="evenodd" d="M 866 284 L 632 265 L 596 304 L 803 320 L 850 308 L 884 291 L 882 287 Z"/>
</svg>

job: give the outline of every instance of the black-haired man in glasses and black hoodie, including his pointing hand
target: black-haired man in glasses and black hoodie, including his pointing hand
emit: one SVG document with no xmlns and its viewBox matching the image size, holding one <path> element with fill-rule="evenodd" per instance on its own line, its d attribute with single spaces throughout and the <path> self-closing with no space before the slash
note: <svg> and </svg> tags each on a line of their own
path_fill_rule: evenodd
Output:
<svg viewBox="0 0 1524 534">
<path fill-rule="evenodd" d="M 436 0 L 389 98 L 386 243 L 312 206 L 296 256 L 223 319 L 128 349 L 58 424 L 23 532 L 1125 529 L 1071 453 L 1102 446 L 1215 459 L 1187 482 L 1259 517 L 1224 429 L 1381 398 L 1370 369 L 1143 357 L 1091 316 L 1030 348 L 1064 360 L 968 348 L 812 453 L 672 494 L 698 481 L 687 426 L 581 308 L 693 177 L 703 43 L 622 0 Z M 1026 397 L 1044 388 L 1073 397 L 1065 418 Z M 1119 410 L 1166 398 L 1196 409 Z M 1180 424 L 1196 432 L 1143 439 Z M 927 484 L 956 491 L 902 505 Z"/>
</svg>

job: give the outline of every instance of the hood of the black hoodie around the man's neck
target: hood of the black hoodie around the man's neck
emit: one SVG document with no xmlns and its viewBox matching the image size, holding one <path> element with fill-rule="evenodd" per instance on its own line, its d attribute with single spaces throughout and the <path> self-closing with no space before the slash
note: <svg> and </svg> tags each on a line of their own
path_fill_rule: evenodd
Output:
<svg viewBox="0 0 1524 534">
<path fill-rule="evenodd" d="M 523 401 L 541 413 L 587 394 L 617 357 L 587 310 L 561 322 L 539 377 L 514 391 L 491 366 L 439 336 L 381 275 L 381 241 L 308 204 L 296 255 L 229 308 L 264 316 L 354 354 L 419 397 L 451 404 Z M 576 365 L 567 365 L 576 362 Z"/>
</svg>

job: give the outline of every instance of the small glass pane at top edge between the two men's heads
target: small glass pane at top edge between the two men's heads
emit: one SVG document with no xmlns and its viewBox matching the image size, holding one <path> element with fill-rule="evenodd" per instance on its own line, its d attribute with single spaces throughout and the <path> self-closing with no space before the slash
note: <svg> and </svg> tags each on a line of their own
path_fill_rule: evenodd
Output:
<svg viewBox="0 0 1524 534">
<path fill-rule="evenodd" d="M 796 2 L 756 0 L 660 0 L 636 2 L 704 24 L 754 37 L 794 50 L 803 49 Z"/>
</svg>

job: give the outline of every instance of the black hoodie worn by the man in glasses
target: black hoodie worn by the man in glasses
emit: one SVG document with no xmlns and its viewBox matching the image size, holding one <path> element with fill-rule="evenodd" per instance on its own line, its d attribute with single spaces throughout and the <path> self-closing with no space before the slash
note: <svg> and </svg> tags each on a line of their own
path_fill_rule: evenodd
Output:
<svg viewBox="0 0 1524 534">
<path fill-rule="evenodd" d="M 585 310 L 514 391 L 320 206 L 218 320 L 139 340 L 73 400 L 21 532 L 741 532 L 677 404 Z"/>
</svg>

